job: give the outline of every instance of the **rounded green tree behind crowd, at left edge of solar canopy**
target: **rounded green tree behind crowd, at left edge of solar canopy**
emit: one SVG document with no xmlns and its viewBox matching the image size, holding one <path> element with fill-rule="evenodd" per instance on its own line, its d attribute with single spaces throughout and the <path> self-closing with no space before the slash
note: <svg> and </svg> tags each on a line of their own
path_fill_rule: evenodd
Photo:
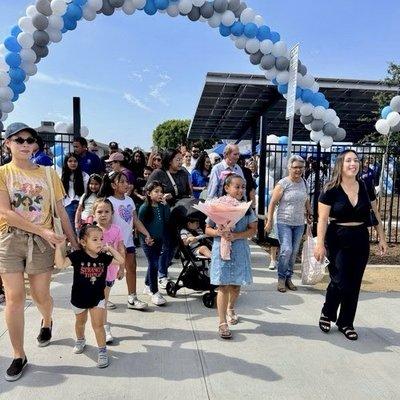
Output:
<svg viewBox="0 0 400 400">
<path fill-rule="evenodd" d="M 171 119 L 164 121 L 153 131 L 153 144 L 161 149 L 175 149 L 181 144 L 190 147 L 194 143 L 198 144 L 202 150 L 212 147 L 214 144 L 212 140 L 188 140 L 187 134 L 189 132 L 190 122 L 190 119 Z"/>
</svg>

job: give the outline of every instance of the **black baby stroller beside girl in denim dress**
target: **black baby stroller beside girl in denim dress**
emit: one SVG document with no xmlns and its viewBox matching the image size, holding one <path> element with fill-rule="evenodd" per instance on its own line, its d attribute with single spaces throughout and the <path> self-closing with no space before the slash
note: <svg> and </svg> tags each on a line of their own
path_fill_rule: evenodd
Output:
<svg viewBox="0 0 400 400">
<path fill-rule="evenodd" d="M 183 287 L 195 291 L 206 291 L 207 293 L 203 294 L 203 304 L 207 308 L 212 308 L 214 307 L 215 297 L 217 295 L 215 292 L 217 286 L 210 284 L 210 277 L 208 275 L 208 264 L 210 260 L 206 257 L 195 255 L 189 246 L 185 246 L 179 234 L 180 229 L 185 225 L 186 218 L 189 216 L 198 219 L 200 224 L 204 227 L 204 214 L 192 207 L 194 204 L 197 204 L 197 202 L 198 200 L 196 199 L 182 199 L 178 201 L 171 211 L 171 220 L 176 223 L 175 234 L 178 241 L 182 271 L 175 282 L 168 282 L 166 291 L 171 297 L 175 297 L 178 290 Z"/>
</svg>

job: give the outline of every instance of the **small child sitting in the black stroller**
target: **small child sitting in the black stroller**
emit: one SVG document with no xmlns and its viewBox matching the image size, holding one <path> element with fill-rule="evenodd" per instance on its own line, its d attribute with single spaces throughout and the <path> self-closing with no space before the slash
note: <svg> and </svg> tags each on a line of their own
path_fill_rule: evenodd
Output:
<svg viewBox="0 0 400 400">
<path fill-rule="evenodd" d="M 186 218 L 186 227 L 180 232 L 182 242 L 196 257 L 211 258 L 211 241 L 207 239 L 200 228 L 200 221 L 196 217 Z"/>
</svg>

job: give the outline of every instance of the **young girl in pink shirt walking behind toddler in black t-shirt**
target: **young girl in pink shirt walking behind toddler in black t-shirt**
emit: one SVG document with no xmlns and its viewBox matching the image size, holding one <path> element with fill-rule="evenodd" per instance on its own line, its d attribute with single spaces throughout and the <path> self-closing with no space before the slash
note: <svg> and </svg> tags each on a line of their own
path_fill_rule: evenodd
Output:
<svg viewBox="0 0 400 400">
<path fill-rule="evenodd" d="M 112 203 L 108 199 L 98 199 L 93 204 L 93 215 L 97 225 L 103 231 L 103 242 L 112 246 L 119 254 L 125 254 L 124 239 L 122 231 L 118 225 L 112 223 L 114 209 Z M 106 343 L 112 343 L 114 338 L 111 335 L 111 327 L 107 322 L 107 308 L 115 308 L 115 305 L 108 301 L 111 288 L 116 279 L 121 280 L 124 277 L 124 263 L 117 265 L 111 264 L 107 270 L 106 287 L 104 289 L 104 297 L 106 300 L 106 312 L 104 313 L 104 329 L 106 331 Z M 110 307 L 113 305 L 114 307 Z"/>
</svg>

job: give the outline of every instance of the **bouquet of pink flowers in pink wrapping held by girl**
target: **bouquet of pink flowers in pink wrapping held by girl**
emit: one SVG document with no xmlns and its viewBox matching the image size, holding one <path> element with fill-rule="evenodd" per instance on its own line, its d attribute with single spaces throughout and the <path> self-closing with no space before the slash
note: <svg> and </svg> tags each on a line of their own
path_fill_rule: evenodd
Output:
<svg viewBox="0 0 400 400">
<path fill-rule="evenodd" d="M 193 207 L 207 215 L 214 221 L 218 228 L 226 232 L 231 232 L 236 223 L 244 217 L 251 205 L 251 201 L 244 203 L 234 199 L 231 196 L 222 196 L 218 199 L 207 200 L 205 203 L 199 203 Z M 221 258 L 223 260 L 231 259 L 232 243 L 221 237 Z"/>
</svg>

